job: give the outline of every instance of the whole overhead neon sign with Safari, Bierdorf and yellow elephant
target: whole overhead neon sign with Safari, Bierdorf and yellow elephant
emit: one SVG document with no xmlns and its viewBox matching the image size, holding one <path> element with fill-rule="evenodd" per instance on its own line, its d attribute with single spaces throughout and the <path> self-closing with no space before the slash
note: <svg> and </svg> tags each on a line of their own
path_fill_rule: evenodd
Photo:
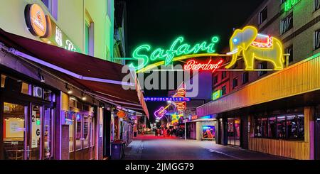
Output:
<svg viewBox="0 0 320 174">
<path fill-rule="evenodd" d="M 297 1 L 288 0 L 292 4 Z M 287 2 L 288 2 L 287 1 Z M 245 71 L 254 71 L 255 60 L 266 61 L 274 65 L 273 69 L 282 70 L 284 66 L 284 51 L 282 43 L 277 38 L 260 34 L 254 26 L 245 26 L 242 30 L 234 31 L 230 38 L 230 52 L 225 54 L 215 53 L 215 44 L 219 38 L 214 36 L 210 43 L 196 43 L 191 46 L 183 43 L 184 38 L 179 37 L 171 44 L 168 50 L 162 48 L 151 49 L 150 45 L 141 45 L 134 50 L 132 62 L 129 66 L 134 67 L 137 73 L 145 72 L 159 65 L 169 65 L 174 61 L 186 60 L 191 58 L 219 58 L 218 60 L 208 60 L 208 62 L 199 62 L 198 60 L 189 60 L 184 65 L 184 70 L 210 70 L 215 72 L 223 66 L 222 57 L 232 57 L 231 62 L 225 66 L 225 70 L 235 65 L 238 57 L 242 56 L 245 62 Z"/>
</svg>

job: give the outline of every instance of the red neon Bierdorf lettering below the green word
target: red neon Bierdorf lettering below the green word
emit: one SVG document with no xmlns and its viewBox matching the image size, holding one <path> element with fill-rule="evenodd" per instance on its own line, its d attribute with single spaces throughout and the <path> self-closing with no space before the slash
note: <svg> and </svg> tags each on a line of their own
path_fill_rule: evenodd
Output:
<svg viewBox="0 0 320 174">
<path fill-rule="evenodd" d="M 186 65 L 184 65 L 184 70 L 211 70 L 212 72 L 215 72 L 215 70 L 219 69 L 223 63 L 222 59 L 217 63 L 211 61 L 212 60 L 210 59 L 207 63 L 200 63 L 196 60 L 189 60 L 186 62 Z"/>
</svg>

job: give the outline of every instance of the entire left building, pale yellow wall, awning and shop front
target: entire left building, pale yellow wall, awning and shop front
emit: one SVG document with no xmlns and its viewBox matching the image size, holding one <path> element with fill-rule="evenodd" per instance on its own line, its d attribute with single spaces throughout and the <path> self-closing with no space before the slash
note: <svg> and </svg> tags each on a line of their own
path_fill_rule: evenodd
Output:
<svg viewBox="0 0 320 174">
<path fill-rule="evenodd" d="M 102 159 L 112 141 L 129 143 L 134 118 L 149 114 L 138 88 L 121 87 L 122 65 L 106 61 L 113 1 L 7 1 L 0 11 L 0 158 Z"/>
</svg>

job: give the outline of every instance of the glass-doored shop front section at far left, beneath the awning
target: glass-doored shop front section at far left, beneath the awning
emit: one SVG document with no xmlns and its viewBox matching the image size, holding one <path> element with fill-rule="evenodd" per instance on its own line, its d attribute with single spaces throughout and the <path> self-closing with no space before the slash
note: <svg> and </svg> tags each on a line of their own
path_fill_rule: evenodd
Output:
<svg viewBox="0 0 320 174">
<path fill-rule="evenodd" d="M 52 159 L 57 89 L 1 70 L 0 140 L 4 159 Z"/>
</svg>

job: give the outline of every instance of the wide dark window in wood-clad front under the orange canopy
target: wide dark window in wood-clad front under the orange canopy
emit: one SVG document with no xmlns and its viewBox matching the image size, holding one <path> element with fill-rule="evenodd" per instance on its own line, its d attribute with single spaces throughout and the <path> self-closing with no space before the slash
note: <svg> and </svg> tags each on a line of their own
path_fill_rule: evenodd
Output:
<svg viewBox="0 0 320 174">
<path fill-rule="evenodd" d="M 289 114 L 255 119 L 255 136 L 304 139 L 304 115 Z"/>
</svg>

